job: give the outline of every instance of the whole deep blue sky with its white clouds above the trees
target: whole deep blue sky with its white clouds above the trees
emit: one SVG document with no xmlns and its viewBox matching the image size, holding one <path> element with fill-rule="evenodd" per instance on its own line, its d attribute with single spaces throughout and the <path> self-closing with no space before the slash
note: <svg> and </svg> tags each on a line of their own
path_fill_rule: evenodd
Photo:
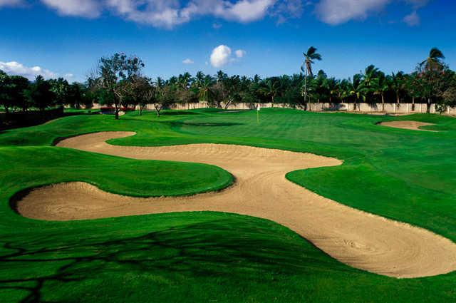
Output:
<svg viewBox="0 0 456 303">
<path fill-rule="evenodd" d="M 455 69 L 455 14 L 452 0 L 0 0 L 0 69 L 84 81 L 123 51 L 154 78 L 276 76 L 298 73 L 309 46 L 339 78 L 410 72 L 433 46 Z"/>
</svg>

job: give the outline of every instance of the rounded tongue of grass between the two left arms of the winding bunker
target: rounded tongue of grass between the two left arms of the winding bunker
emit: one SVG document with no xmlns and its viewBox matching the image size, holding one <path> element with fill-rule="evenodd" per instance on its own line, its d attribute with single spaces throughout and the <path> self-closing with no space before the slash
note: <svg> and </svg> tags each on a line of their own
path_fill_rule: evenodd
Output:
<svg viewBox="0 0 456 303">
<path fill-rule="evenodd" d="M 84 181 L 121 195 L 160 197 L 221 190 L 233 181 L 226 170 L 212 165 L 139 161 L 67 148 L 0 148 L 0 159 L 2 163 L 10 163 L 1 168 L 2 188 L 16 183 L 33 188 Z"/>
</svg>

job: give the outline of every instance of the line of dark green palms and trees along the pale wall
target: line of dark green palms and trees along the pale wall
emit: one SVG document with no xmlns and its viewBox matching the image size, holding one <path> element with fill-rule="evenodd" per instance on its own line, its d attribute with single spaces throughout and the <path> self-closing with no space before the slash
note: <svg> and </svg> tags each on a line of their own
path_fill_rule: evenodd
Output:
<svg viewBox="0 0 456 303">
<path fill-rule="evenodd" d="M 212 106 L 232 103 L 288 103 L 308 108 L 309 103 L 427 103 L 437 111 L 456 106 L 456 73 L 443 53 L 432 48 L 427 58 L 418 63 L 413 73 L 386 74 L 375 66 L 366 67 L 351 78 L 337 79 L 324 71 L 314 74 L 315 61 L 322 60 L 317 49 L 303 53 L 301 73 L 292 76 L 261 78 L 256 75 L 228 76 L 223 71 L 195 76 L 183 73 L 168 79 L 151 78 L 142 73 L 145 63 L 137 56 L 115 53 L 100 58 L 86 83 L 68 83 L 63 78 L 45 80 L 38 76 L 28 81 L 0 71 L 0 106 L 8 111 L 27 111 L 50 106 L 80 107 L 92 103 L 113 106 L 115 118 L 124 108 L 137 107 L 140 114 L 153 104 L 157 115 L 172 103 L 207 102 Z M 310 107 L 309 107 L 310 109 Z M 383 108 L 384 109 L 384 108 Z"/>
</svg>

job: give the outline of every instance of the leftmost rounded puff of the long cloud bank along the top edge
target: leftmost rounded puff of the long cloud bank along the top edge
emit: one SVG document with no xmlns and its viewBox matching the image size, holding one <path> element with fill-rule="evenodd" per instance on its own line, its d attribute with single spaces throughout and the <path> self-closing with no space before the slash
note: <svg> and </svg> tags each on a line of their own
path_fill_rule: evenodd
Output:
<svg viewBox="0 0 456 303">
<path fill-rule="evenodd" d="M 100 16 L 101 11 L 100 4 L 94 0 L 41 0 L 41 2 L 63 16 L 95 18 Z"/>
</svg>

